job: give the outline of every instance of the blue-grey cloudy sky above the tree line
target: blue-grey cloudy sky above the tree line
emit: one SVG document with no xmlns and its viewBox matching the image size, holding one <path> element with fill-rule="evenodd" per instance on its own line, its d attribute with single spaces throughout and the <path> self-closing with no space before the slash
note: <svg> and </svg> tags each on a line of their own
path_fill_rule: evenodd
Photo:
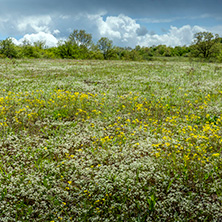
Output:
<svg viewBox="0 0 222 222">
<path fill-rule="evenodd" d="M 74 29 L 96 43 L 118 46 L 189 45 L 193 34 L 222 36 L 221 0 L 0 0 L 0 40 L 56 46 Z"/>
</svg>

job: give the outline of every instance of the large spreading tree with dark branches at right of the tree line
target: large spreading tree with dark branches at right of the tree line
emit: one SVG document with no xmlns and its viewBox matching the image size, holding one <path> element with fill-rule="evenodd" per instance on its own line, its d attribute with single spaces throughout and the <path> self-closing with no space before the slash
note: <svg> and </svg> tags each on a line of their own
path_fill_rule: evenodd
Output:
<svg viewBox="0 0 222 222">
<path fill-rule="evenodd" d="M 219 35 L 211 32 L 198 32 L 194 35 L 194 55 L 209 58 L 217 53 L 217 43 L 219 42 Z"/>
</svg>

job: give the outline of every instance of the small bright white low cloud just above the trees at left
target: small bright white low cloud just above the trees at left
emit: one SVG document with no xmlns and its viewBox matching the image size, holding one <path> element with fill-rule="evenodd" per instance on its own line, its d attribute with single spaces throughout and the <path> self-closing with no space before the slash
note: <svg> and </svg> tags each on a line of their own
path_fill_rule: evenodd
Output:
<svg viewBox="0 0 222 222">
<path fill-rule="evenodd" d="M 14 38 L 12 40 L 16 45 L 22 44 L 24 40 L 29 41 L 31 44 L 37 41 L 44 41 L 46 46 L 48 47 L 57 46 L 58 43 L 58 39 L 56 39 L 52 34 L 45 32 L 39 32 L 36 34 L 26 34 L 23 38 L 19 40 L 16 40 Z"/>
</svg>

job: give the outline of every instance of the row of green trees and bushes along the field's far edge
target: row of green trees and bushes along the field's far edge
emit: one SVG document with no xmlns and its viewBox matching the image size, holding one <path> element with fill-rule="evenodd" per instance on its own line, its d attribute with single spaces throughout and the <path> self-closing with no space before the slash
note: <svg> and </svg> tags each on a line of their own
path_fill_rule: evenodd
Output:
<svg viewBox="0 0 222 222">
<path fill-rule="evenodd" d="M 62 58 L 62 59 L 100 59 L 100 60 L 152 60 L 157 57 L 197 57 L 222 62 L 222 38 L 211 32 L 194 35 L 190 46 L 170 47 L 158 45 L 151 47 L 114 46 L 112 40 L 102 37 L 96 44 L 92 35 L 85 30 L 74 30 L 57 47 L 47 47 L 45 42 L 31 44 L 24 40 L 15 45 L 11 38 L 0 41 L 0 58 Z"/>
</svg>

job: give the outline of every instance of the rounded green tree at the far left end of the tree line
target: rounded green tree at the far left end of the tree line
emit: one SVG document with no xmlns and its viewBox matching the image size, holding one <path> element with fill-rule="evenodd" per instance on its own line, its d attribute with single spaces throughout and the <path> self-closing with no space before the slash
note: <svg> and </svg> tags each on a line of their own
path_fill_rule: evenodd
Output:
<svg viewBox="0 0 222 222">
<path fill-rule="evenodd" d="M 11 38 L 0 41 L 0 54 L 8 58 L 17 56 L 17 50 Z"/>
</svg>

